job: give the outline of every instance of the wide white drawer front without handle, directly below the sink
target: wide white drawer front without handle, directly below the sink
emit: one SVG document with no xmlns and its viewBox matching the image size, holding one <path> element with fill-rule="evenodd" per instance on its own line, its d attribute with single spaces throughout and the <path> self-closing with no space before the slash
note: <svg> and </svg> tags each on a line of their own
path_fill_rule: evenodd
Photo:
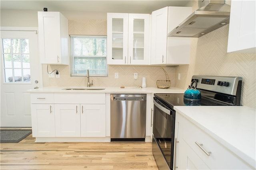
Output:
<svg viewBox="0 0 256 170">
<path fill-rule="evenodd" d="M 105 93 L 55 93 L 54 102 L 59 104 L 105 104 Z"/>
</svg>

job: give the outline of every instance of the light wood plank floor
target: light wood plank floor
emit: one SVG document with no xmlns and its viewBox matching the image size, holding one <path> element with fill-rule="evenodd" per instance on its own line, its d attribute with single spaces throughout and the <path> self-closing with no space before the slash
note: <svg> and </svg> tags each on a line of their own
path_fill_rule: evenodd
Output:
<svg viewBox="0 0 256 170">
<path fill-rule="evenodd" d="M 151 142 L 1 143 L 1 170 L 158 170 Z"/>
</svg>

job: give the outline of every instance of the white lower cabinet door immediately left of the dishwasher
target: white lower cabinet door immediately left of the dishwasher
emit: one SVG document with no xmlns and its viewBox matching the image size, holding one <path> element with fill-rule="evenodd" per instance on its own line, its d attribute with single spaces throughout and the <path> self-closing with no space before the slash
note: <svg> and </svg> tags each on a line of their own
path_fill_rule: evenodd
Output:
<svg viewBox="0 0 256 170">
<path fill-rule="evenodd" d="M 106 137 L 106 105 L 81 105 L 81 136 Z"/>
</svg>

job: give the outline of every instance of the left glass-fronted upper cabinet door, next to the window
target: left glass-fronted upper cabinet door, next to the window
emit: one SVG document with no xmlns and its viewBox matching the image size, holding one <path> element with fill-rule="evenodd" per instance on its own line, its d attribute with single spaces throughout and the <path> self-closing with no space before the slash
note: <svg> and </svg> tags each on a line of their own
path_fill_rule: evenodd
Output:
<svg viewBox="0 0 256 170">
<path fill-rule="evenodd" d="M 108 13 L 108 64 L 128 64 L 128 14 Z"/>
</svg>

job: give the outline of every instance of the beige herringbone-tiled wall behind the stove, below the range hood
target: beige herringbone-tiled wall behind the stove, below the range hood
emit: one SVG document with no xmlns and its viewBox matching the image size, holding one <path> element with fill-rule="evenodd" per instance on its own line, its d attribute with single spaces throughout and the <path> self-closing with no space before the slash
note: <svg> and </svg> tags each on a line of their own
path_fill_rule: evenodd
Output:
<svg viewBox="0 0 256 170">
<path fill-rule="evenodd" d="M 256 108 L 256 54 L 227 53 L 229 25 L 192 39 L 190 64 L 176 68 L 175 87 L 187 88 L 192 75 L 242 77 L 242 105 Z M 178 80 L 181 73 L 181 80 Z"/>
</svg>

